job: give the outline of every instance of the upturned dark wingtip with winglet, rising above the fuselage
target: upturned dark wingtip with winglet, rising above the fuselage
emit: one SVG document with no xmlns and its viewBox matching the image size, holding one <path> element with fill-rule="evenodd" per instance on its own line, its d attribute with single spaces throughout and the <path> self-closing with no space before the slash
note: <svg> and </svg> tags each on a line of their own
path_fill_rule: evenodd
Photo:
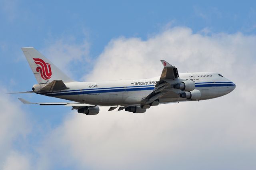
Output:
<svg viewBox="0 0 256 170">
<path fill-rule="evenodd" d="M 161 60 L 164 65 L 160 80 L 175 79 L 179 77 L 178 69 L 170 65 L 167 61 Z"/>
</svg>

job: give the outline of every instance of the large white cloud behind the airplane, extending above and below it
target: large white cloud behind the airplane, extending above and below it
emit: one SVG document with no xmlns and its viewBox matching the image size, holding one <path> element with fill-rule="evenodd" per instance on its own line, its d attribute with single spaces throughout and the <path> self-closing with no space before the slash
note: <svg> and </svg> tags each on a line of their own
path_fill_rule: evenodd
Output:
<svg viewBox="0 0 256 170">
<path fill-rule="evenodd" d="M 86 80 L 160 75 L 160 59 L 180 72 L 219 71 L 234 81 L 227 96 L 152 107 L 144 114 L 74 114 L 46 136 L 38 166 L 78 169 L 255 169 L 256 37 L 193 34 L 171 28 L 146 41 L 112 40 Z M 63 163 L 64 162 L 64 163 Z M 62 164 L 63 163 L 63 164 Z"/>
</svg>

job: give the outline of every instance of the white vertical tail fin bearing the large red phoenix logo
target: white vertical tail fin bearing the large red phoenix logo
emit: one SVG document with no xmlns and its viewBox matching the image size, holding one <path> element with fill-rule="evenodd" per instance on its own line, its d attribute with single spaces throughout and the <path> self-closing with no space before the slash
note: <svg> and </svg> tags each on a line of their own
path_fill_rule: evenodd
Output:
<svg viewBox="0 0 256 170">
<path fill-rule="evenodd" d="M 24 47 L 21 49 L 39 84 L 49 83 L 53 80 L 74 82 L 51 61 L 44 57 L 44 55 L 34 49 L 34 47 Z"/>
</svg>

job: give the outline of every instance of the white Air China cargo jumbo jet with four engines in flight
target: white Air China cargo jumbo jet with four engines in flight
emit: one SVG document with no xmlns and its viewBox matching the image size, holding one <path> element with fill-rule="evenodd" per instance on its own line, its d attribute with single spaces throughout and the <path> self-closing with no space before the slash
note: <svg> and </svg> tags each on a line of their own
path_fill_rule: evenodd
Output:
<svg viewBox="0 0 256 170">
<path fill-rule="evenodd" d="M 32 91 L 72 102 L 24 104 L 64 105 L 78 113 L 97 115 L 100 107 L 118 108 L 132 113 L 145 113 L 152 106 L 183 101 L 201 101 L 226 95 L 236 88 L 229 79 L 215 72 L 178 73 L 178 69 L 161 60 L 164 68 L 158 77 L 149 79 L 77 82 L 64 74 L 34 47 L 22 51 L 38 81 Z"/>
</svg>

